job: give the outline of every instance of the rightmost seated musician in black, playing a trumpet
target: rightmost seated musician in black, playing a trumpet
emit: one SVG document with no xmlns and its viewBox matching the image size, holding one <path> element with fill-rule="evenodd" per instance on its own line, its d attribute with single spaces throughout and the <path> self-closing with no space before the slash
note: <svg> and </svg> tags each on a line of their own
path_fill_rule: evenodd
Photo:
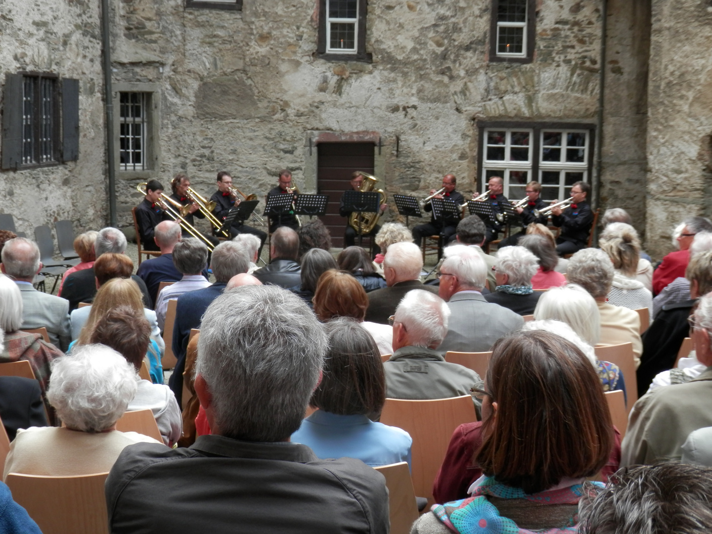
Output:
<svg viewBox="0 0 712 534">
<path fill-rule="evenodd" d="M 551 221 L 554 226 L 561 227 L 561 234 L 556 239 L 559 256 L 580 251 L 588 245 L 588 234 L 593 222 L 593 212 L 588 204 L 590 192 L 590 184 L 575 182 L 571 187 L 572 204 L 564 210 L 551 210 Z"/>
</svg>

